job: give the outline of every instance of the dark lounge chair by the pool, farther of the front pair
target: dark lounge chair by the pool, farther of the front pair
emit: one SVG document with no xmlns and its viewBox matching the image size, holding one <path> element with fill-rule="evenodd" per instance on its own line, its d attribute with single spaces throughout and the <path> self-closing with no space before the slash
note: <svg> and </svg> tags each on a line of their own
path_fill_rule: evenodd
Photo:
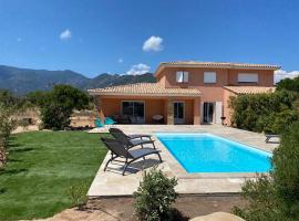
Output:
<svg viewBox="0 0 299 221">
<path fill-rule="evenodd" d="M 147 144 L 153 145 L 154 149 L 156 149 L 154 144 L 155 140 L 153 140 L 150 135 L 134 135 L 130 137 L 117 128 L 110 128 L 109 131 L 117 141 L 124 144 L 127 149 L 140 145 L 143 147 L 143 145 Z M 147 137 L 150 139 L 143 139 L 144 137 Z"/>
</svg>

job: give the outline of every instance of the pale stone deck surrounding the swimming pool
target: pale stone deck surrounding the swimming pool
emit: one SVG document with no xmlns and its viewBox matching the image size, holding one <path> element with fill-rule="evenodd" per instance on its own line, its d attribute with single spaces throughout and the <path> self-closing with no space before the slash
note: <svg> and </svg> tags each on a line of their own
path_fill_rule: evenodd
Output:
<svg viewBox="0 0 299 221">
<path fill-rule="evenodd" d="M 265 135 L 247 130 L 225 127 L 220 125 L 116 125 L 126 134 L 152 134 L 167 133 L 208 133 L 234 141 L 238 141 L 258 149 L 271 152 L 278 144 L 265 143 Z M 91 133 L 106 133 L 106 130 L 92 130 Z M 245 178 L 252 178 L 252 173 L 187 173 L 179 162 L 171 155 L 164 145 L 155 137 L 156 148 L 159 149 L 163 162 L 158 164 L 156 156 L 148 156 L 145 161 L 140 160 L 131 165 L 125 176 L 122 176 L 123 164 L 110 164 L 104 172 L 103 168 L 110 158 L 105 157 L 101 165 L 92 186 L 89 197 L 116 197 L 132 196 L 137 189 L 143 171 L 148 170 L 158 164 L 167 176 L 176 177 L 178 185 L 176 191 L 181 194 L 203 194 L 203 193 L 236 193 L 240 191 L 240 186 Z"/>
</svg>

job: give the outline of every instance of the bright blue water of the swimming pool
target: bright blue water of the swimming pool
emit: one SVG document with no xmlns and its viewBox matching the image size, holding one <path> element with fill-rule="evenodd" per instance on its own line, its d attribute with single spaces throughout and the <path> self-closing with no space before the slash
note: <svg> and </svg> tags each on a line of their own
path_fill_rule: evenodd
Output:
<svg viewBox="0 0 299 221">
<path fill-rule="evenodd" d="M 187 172 L 268 172 L 271 154 L 210 134 L 156 134 Z"/>
</svg>

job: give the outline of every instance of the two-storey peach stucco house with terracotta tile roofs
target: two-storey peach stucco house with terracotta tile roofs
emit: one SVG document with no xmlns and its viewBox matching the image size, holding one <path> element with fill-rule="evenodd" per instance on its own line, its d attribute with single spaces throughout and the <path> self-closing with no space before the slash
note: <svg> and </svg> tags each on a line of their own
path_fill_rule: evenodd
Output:
<svg viewBox="0 0 299 221">
<path fill-rule="evenodd" d="M 228 101 L 239 94 L 270 93 L 278 65 L 164 62 L 157 83 L 89 90 L 100 117 L 132 124 L 230 124 Z M 122 122 L 120 122 L 122 123 Z"/>
</svg>

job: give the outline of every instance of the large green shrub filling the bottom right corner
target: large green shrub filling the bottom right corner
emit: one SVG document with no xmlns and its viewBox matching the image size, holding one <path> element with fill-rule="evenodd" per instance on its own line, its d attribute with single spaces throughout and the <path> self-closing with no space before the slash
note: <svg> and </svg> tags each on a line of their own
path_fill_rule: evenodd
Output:
<svg viewBox="0 0 299 221">
<path fill-rule="evenodd" d="M 271 162 L 269 176 L 259 175 L 243 186 L 248 207 L 234 208 L 233 212 L 248 221 L 298 221 L 299 122 L 282 134 Z"/>
</svg>

